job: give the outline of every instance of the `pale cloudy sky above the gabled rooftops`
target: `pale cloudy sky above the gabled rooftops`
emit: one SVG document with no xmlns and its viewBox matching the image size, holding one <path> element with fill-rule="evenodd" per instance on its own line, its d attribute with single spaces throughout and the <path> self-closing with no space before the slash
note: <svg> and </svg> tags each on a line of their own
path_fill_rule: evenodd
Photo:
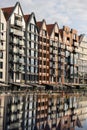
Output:
<svg viewBox="0 0 87 130">
<path fill-rule="evenodd" d="M 58 23 L 76 29 L 78 34 L 87 35 L 87 0 L 18 0 L 24 14 L 35 13 L 37 21 L 47 24 Z M 0 8 L 14 6 L 16 0 L 0 0 Z"/>
</svg>

